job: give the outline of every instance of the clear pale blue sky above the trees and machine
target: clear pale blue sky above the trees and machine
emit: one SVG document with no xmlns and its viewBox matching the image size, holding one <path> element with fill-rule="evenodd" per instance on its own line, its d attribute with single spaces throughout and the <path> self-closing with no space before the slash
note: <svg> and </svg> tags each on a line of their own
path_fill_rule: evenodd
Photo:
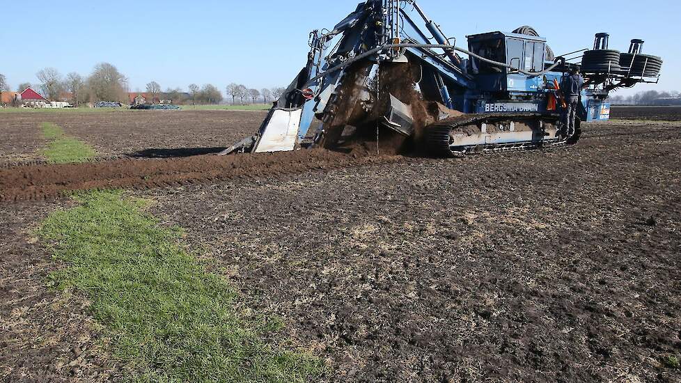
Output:
<svg viewBox="0 0 681 383">
<path fill-rule="evenodd" d="M 306 61 L 309 31 L 331 28 L 357 3 L 0 0 L 0 73 L 15 88 L 36 83 L 36 72 L 45 67 L 62 75 L 88 75 L 96 63 L 106 61 L 130 79 L 131 91 L 143 90 L 152 80 L 164 89 L 211 83 L 223 92 L 230 82 L 258 89 L 285 86 Z M 572 10 L 547 8 L 561 2 L 545 0 L 420 3 L 462 47 L 468 34 L 525 24 L 548 38 L 556 54 L 593 46 L 593 34 L 602 31 L 611 33 L 611 48 L 623 51 L 629 40 L 642 38 L 646 53 L 665 59 L 662 80 L 619 94 L 681 91 L 678 1 L 563 2 Z"/>
</svg>

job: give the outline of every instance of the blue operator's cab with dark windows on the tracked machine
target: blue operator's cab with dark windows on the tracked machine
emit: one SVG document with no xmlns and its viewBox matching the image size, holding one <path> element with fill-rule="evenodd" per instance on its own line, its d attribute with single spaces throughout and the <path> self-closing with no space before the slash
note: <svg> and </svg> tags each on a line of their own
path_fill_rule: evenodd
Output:
<svg viewBox="0 0 681 383">
<path fill-rule="evenodd" d="M 492 61 L 499 61 L 528 72 L 544 70 L 546 39 L 517 33 L 490 32 L 468 36 L 469 51 Z M 536 92 L 539 80 L 513 74 L 508 68 L 490 65 L 471 57 L 468 72 L 476 75 L 480 91 Z M 536 84 L 535 84 L 536 83 Z"/>
</svg>

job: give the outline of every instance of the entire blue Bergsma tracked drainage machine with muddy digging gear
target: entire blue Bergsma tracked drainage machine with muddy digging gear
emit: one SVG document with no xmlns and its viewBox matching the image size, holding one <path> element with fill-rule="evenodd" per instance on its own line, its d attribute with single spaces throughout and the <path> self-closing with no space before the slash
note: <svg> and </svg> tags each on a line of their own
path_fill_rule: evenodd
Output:
<svg viewBox="0 0 681 383">
<path fill-rule="evenodd" d="M 642 53 L 643 41 L 620 54 L 608 49 L 606 33 L 574 58 L 554 58 L 529 26 L 467 42 L 457 47 L 414 0 L 363 1 L 333 29 L 311 33 L 305 67 L 258 133 L 223 154 L 329 147 L 378 128 L 435 156 L 565 146 L 581 133 L 579 123 L 561 126 L 570 61 L 581 58 L 586 77 L 580 120 L 608 118 L 610 91 L 654 82 L 662 68 L 662 59 Z"/>
</svg>

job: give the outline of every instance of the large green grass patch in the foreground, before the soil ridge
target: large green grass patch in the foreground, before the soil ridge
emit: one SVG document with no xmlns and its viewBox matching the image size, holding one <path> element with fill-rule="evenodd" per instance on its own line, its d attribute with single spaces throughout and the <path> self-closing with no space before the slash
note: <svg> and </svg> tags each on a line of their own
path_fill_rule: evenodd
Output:
<svg viewBox="0 0 681 383">
<path fill-rule="evenodd" d="M 281 327 L 256 318 L 221 276 L 205 271 L 161 228 L 145 202 L 120 192 L 75 194 L 79 205 L 52 213 L 40 236 L 65 269 L 54 286 L 90 299 L 112 356 L 141 382 L 303 382 L 322 362 L 263 341 Z"/>
</svg>

